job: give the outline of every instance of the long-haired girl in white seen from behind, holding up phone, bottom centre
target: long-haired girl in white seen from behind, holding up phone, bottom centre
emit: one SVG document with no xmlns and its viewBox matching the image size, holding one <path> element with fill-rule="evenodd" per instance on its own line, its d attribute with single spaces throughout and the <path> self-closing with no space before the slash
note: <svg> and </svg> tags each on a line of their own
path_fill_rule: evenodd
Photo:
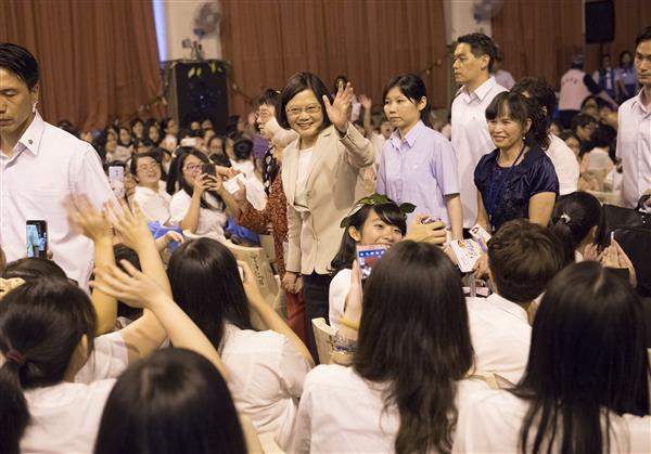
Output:
<svg viewBox="0 0 651 454">
<path fill-rule="evenodd" d="M 363 304 L 358 278 L 356 267 L 341 321 L 359 327 L 353 366 L 308 374 L 290 452 L 449 452 L 458 408 L 486 388 L 468 378 L 473 349 L 458 271 L 437 246 L 405 241 L 373 268 Z"/>
</svg>

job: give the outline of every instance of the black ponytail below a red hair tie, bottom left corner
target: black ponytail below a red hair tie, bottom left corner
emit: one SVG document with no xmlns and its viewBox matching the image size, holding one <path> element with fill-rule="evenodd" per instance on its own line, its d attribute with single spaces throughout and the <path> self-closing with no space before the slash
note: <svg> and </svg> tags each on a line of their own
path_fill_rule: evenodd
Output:
<svg viewBox="0 0 651 454">
<path fill-rule="evenodd" d="M 21 439 L 29 423 L 29 410 L 21 385 L 24 364 L 18 358 L 11 358 L 12 353 L 15 352 L 3 349 L 5 360 L 0 366 L 0 452 L 20 454 Z"/>
</svg>

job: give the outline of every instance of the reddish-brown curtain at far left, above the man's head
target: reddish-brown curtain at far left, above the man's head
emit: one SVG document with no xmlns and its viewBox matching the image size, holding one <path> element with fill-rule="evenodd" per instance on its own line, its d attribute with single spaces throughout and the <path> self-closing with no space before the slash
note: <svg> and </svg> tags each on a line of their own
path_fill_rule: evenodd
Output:
<svg viewBox="0 0 651 454">
<path fill-rule="evenodd" d="M 0 41 L 38 60 L 47 121 L 68 119 L 88 130 L 162 113 L 150 1 L 4 0 Z"/>
</svg>

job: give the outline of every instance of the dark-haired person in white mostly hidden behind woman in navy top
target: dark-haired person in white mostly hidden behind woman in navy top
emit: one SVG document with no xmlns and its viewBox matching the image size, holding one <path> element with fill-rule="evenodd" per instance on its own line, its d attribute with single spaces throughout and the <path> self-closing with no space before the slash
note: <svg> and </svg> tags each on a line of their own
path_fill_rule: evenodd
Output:
<svg viewBox="0 0 651 454">
<path fill-rule="evenodd" d="M 518 81 L 512 91 L 535 100 L 547 114 L 547 130 L 551 126 L 556 109 L 556 93 L 545 79 L 524 77 Z M 559 179 L 559 195 L 571 194 L 578 187 L 578 160 L 565 142 L 549 132 L 549 146 L 545 151 L 551 159 Z"/>
</svg>

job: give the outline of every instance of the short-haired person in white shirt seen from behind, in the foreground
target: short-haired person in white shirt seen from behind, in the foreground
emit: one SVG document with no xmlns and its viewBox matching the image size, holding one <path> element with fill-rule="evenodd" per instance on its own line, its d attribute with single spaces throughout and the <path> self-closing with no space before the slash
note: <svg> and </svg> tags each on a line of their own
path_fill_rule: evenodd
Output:
<svg viewBox="0 0 651 454">
<path fill-rule="evenodd" d="M 494 294 L 468 298 L 475 367 L 498 381 L 516 384 L 528 359 L 529 308 L 563 269 L 563 248 L 547 229 L 516 219 L 503 224 L 488 242 L 488 270 Z"/>
</svg>

